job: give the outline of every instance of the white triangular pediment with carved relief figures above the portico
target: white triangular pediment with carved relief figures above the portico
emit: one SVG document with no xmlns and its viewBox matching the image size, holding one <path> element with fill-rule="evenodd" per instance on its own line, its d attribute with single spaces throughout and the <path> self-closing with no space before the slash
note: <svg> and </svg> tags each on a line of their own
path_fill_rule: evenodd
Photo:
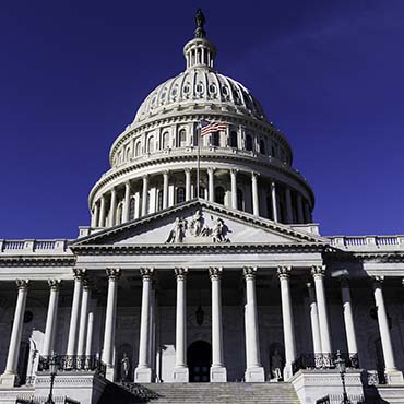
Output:
<svg viewBox="0 0 404 404">
<path fill-rule="evenodd" d="M 193 200 L 80 238 L 71 245 L 326 243 L 325 239 L 216 203 Z"/>
</svg>

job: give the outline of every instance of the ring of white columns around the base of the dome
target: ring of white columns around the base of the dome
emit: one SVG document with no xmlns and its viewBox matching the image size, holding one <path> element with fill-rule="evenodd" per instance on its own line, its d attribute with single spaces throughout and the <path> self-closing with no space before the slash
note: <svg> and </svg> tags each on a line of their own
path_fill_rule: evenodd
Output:
<svg viewBox="0 0 404 404">
<path fill-rule="evenodd" d="M 207 168 L 207 200 L 210 202 L 215 202 L 215 176 L 214 168 Z M 237 173 L 238 169 L 230 169 L 230 207 L 241 209 L 238 206 L 237 200 Z M 259 185 L 258 185 L 258 173 L 251 173 L 251 200 L 252 200 L 252 214 L 256 216 L 260 215 L 260 195 L 259 195 Z M 191 200 L 192 185 L 191 185 L 191 169 L 185 169 L 186 178 L 186 201 Z M 169 170 L 163 171 L 163 209 L 168 207 L 168 188 L 169 188 Z M 271 207 L 272 217 L 274 222 L 280 221 L 280 201 L 276 190 L 276 182 L 270 182 L 270 194 L 271 194 Z M 123 210 L 122 210 L 122 223 L 130 219 L 130 195 L 131 187 L 130 182 L 124 183 L 124 199 L 123 199 Z M 142 177 L 142 203 L 141 203 L 141 215 L 145 216 L 147 214 L 147 202 L 148 202 L 148 176 Z M 290 188 L 285 188 L 285 204 L 286 204 L 286 222 L 293 224 L 293 203 L 292 203 L 292 190 Z M 307 201 L 304 202 L 300 193 L 296 197 L 297 205 L 297 223 L 308 223 L 311 221 L 310 206 Z M 117 211 L 117 190 L 112 188 L 110 190 L 110 207 L 107 226 L 112 227 L 117 223 L 116 217 Z M 105 227 L 106 219 L 106 197 L 100 197 L 99 209 L 98 202 L 94 205 L 94 212 L 92 215 L 92 227 Z"/>
</svg>

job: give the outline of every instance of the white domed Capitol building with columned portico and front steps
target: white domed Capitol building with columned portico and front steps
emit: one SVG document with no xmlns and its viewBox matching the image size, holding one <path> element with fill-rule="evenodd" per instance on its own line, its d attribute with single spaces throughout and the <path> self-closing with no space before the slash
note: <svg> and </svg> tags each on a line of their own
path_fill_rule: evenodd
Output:
<svg viewBox="0 0 404 404">
<path fill-rule="evenodd" d="M 112 143 L 78 238 L 0 240 L 0 403 L 341 403 L 342 376 L 352 403 L 404 403 L 404 236 L 320 234 L 204 25 Z"/>
</svg>

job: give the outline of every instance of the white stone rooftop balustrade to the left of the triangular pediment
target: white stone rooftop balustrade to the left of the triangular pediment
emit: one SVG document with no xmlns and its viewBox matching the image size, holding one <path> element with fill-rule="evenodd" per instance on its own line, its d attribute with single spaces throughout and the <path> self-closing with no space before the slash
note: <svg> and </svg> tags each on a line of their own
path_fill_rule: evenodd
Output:
<svg viewBox="0 0 404 404">
<path fill-rule="evenodd" d="M 0 240 L 0 254 L 55 254 L 69 252 L 69 240 Z"/>
</svg>

